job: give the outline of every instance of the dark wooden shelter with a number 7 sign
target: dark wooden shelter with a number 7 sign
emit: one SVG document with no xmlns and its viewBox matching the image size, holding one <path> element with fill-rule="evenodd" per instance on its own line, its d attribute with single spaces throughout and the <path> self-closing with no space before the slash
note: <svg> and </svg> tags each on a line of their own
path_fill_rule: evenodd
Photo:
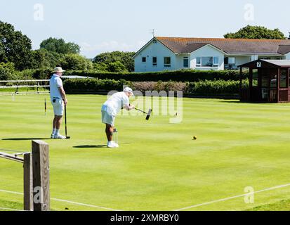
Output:
<svg viewBox="0 0 290 225">
<path fill-rule="evenodd" d="M 239 65 L 240 101 L 260 103 L 290 102 L 290 60 L 254 60 Z M 249 69 L 249 87 L 242 86 L 242 70 Z"/>
</svg>

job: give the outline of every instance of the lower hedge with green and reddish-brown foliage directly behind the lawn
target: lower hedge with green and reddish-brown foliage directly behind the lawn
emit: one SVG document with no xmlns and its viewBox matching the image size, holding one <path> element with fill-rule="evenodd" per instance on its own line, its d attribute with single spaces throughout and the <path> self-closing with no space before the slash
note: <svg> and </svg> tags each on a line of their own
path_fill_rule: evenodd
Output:
<svg viewBox="0 0 290 225">
<path fill-rule="evenodd" d="M 222 95 L 239 94 L 239 81 L 205 80 L 199 82 L 128 82 L 110 79 L 65 79 L 65 90 L 73 93 L 100 93 L 112 90 L 121 91 L 123 86 L 131 86 L 133 90 L 141 91 L 183 91 L 184 95 Z M 249 86 L 249 80 L 244 79 L 244 87 Z"/>
</svg>

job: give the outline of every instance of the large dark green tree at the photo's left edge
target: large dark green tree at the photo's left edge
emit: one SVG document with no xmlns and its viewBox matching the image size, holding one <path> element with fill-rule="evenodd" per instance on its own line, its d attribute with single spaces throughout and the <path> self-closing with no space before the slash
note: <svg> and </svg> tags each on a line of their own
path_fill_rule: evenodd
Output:
<svg viewBox="0 0 290 225">
<path fill-rule="evenodd" d="M 0 21 L 0 61 L 11 62 L 17 70 L 29 68 L 31 40 L 13 25 Z"/>
</svg>

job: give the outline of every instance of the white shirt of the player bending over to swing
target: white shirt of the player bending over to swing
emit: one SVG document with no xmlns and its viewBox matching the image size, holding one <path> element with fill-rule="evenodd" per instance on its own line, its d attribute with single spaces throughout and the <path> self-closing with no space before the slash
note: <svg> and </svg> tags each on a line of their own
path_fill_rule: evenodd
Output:
<svg viewBox="0 0 290 225">
<path fill-rule="evenodd" d="M 129 105 L 129 98 L 124 91 L 113 94 L 103 105 L 102 110 L 109 115 L 117 115 L 124 105 Z"/>
</svg>

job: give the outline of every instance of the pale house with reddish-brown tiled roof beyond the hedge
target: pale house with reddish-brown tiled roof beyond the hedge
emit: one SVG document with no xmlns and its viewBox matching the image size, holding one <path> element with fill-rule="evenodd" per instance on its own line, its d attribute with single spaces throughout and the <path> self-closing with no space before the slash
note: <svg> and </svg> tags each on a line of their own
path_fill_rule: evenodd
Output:
<svg viewBox="0 0 290 225">
<path fill-rule="evenodd" d="M 134 56 L 135 72 L 225 70 L 253 60 L 290 60 L 290 40 L 154 37 Z"/>
</svg>

